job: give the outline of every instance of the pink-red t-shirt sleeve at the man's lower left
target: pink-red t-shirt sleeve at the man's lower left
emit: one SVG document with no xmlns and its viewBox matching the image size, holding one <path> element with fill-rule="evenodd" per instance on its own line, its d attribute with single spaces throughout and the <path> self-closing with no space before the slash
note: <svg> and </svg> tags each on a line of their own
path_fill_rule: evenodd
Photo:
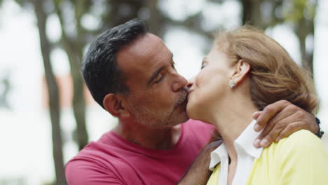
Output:
<svg viewBox="0 0 328 185">
<path fill-rule="evenodd" d="M 110 169 L 89 160 L 73 160 L 65 167 L 69 185 L 124 184 Z"/>
</svg>

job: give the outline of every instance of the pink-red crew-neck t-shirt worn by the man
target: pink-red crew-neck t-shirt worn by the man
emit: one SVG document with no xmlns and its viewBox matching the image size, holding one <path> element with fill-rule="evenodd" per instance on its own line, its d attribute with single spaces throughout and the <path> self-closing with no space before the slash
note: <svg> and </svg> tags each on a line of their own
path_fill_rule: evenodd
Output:
<svg viewBox="0 0 328 185">
<path fill-rule="evenodd" d="M 200 149 L 212 125 L 189 120 L 170 150 L 153 150 L 110 131 L 91 142 L 66 165 L 69 184 L 177 184 Z"/>
</svg>

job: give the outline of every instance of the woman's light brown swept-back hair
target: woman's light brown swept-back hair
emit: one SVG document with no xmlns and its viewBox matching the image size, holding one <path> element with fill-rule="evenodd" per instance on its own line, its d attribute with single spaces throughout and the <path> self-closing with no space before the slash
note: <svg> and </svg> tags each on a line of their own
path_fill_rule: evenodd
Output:
<svg viewBox="0 0 328 185">
<path fill-rule="evenodd" d="M 258 109 L 278 100 L 287 100 L 315 113 L 318 107 L 313 80 L 275 40 L 250 26 L 215 35 L 214 47 L 251 66 L 250 90 Z"/>
</svg>

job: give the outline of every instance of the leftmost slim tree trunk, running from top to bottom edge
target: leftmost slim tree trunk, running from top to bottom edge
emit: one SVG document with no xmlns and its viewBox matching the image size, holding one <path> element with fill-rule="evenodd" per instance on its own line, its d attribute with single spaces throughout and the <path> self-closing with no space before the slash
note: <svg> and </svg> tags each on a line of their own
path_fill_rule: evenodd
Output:
<svg viewBox="0 0 328 185">
<path fill-rule="evenodd" d="M 50 63 L 50 42 L 46 37 L 46 12 L 43 0 L 34 0 L 34 12 L 39 28 L 43 67 L 48 85 L 49 109 L 53 137 L 53 159 L 55 162 L 56 184 L 67 184 L 64 174 L 64 160 L 62 156 L 62 135 L 60 129 L 60 105 L 58 86 Z"/>
</svg>

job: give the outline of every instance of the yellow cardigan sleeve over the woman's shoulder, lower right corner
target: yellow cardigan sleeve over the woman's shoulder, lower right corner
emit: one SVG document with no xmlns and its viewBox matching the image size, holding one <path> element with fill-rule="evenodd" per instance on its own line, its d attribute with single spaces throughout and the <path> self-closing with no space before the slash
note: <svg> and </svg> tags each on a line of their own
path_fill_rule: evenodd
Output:
<svg viewBox="0 0 328 185">
<path fill-rule="evenodd" d="M 295 132 L 280 146 L 278 184 L 328 184 L 328 155 L 320 139 L 307 130 Z"/>
</svg>

